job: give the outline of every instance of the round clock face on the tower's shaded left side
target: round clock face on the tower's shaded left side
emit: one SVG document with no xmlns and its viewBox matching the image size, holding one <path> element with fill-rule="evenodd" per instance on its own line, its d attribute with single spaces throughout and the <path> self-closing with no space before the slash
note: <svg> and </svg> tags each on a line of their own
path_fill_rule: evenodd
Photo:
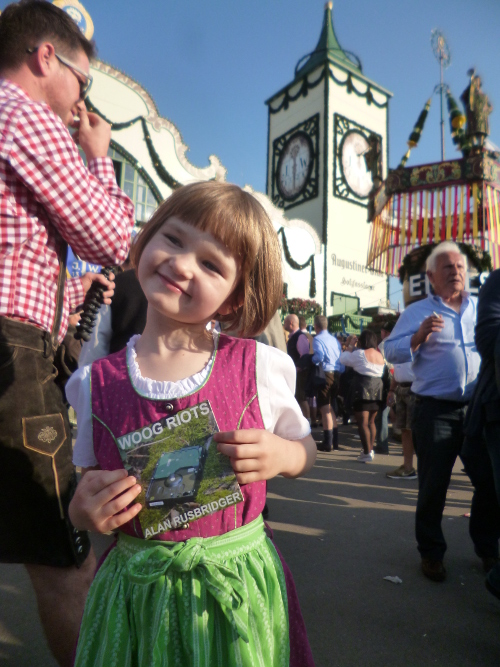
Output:
<svg viewBox="0 0 500 667">
<path fill-rule="evenodd" d="M 277 185 L 283 199 L 290 201 L 306 187 L 314 162 L 310 137 L 296 132 L 283 146 L 278 161 Z"/>
</svg>

